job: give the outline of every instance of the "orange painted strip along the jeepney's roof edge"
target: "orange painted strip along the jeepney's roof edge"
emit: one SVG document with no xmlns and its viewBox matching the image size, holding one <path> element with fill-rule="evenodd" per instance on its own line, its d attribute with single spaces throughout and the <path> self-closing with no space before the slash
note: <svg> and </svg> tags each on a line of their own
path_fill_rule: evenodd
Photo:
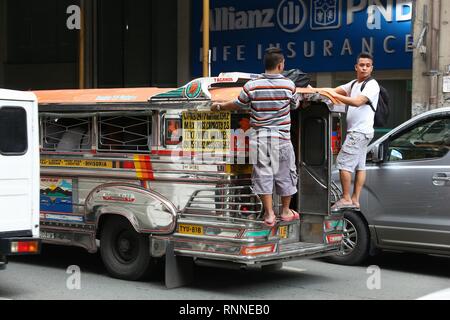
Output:
<svg viewBox="0 0 450 320">
<path fill-rule="evenodd" d="M 72 89 L 34 91 L 40 104 L 146 103 L 168 88 Z"/>
</svg>

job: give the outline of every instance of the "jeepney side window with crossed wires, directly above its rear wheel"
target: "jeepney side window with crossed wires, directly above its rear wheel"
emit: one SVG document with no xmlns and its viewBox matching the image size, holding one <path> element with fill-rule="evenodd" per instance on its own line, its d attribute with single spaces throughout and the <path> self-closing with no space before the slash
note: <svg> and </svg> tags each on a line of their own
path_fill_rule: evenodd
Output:
<svg viewBox="0 0 450 320">
<path fill-rule="evenodd" d="M 98 116 L 102 151 L 145 152 L 151 150 L 151 115 L 118 114 Z"/>
</svg>

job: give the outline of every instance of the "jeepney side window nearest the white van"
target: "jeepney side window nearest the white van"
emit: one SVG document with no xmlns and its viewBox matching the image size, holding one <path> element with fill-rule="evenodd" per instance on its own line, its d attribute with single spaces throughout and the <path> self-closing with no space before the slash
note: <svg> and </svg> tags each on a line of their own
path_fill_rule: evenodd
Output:
<svg viewBox="0 0 450 320">
<path fill-rule="evenodd" d="M 43 150 L 82 152 L 91 150 L 91 117 L 45 116 L 43 125 Z"/>
</svg>

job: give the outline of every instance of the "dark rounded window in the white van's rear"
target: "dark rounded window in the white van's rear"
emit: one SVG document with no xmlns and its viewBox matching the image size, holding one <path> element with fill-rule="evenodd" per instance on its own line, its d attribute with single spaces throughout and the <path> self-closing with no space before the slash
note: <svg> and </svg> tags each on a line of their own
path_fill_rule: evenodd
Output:
<svg viewBox="0 0 450 320">
<path fill-rule="evenodd" d="M 24 154 L 27 149 L 27 112 L 21 107 L 0 107 L 0 153 Z"/>
</svg>

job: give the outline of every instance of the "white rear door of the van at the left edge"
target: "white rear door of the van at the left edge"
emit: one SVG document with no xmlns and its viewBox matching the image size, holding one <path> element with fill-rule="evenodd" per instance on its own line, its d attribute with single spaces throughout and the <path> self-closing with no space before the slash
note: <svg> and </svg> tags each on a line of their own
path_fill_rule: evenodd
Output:
<svg viewBox="0 0 450 320">
<path fill-rule="evenodd" d="M 34 95 L 0 90 L 0 237 L 39 236 L 39 143 Z"/>
</svg>

